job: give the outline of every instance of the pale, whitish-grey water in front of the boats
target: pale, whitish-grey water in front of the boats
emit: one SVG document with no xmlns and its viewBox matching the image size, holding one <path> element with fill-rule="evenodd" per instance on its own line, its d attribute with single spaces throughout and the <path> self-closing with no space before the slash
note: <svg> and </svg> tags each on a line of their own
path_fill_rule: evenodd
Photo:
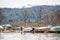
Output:
<svg viewBox="0 0 60 40">
<path fill-rule="evenodd" d="M 0 40 L 60 40 L 56 33 L 0 33 Z"/>
</svg>

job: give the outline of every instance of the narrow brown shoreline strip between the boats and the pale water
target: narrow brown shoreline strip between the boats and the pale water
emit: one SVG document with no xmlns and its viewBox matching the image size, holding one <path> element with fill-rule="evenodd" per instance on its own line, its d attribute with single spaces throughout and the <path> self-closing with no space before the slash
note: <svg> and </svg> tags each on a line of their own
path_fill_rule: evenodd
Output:
<svg viewBox="0 0 60 40">
<path fill-rule="evenodd" d="M 14 32 L 8 31 L 8 32 L 0 32 L 0 33 L 60 33 L 60 31 L 37 31 L 37 30 L 32 30 L 32 31 L 19 31 L 16 30 Z"/>
</svg>

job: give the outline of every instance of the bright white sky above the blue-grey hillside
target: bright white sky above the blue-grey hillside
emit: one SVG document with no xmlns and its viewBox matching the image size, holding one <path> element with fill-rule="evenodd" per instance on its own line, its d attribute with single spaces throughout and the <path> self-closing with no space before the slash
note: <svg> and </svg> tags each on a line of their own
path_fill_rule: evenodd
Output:
<svg viewBox="0 0 60 40">
<path fill-rule="evenodd" d="M 39 5 L 59 5 L 60 0 L 0 0 L 0 7 L 21 8 Z"/>
</svg>

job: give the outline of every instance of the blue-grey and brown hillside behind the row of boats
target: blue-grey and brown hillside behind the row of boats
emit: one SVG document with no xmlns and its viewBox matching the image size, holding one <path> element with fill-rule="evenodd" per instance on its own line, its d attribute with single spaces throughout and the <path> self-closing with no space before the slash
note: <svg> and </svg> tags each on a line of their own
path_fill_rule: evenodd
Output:
<svg viewBox="0 0 60 40">
<path fill-rule="evenodd" d="M 60 25 L 60 5 L 31 8 L 0 8 L 0 24 Z"/>
</svg>

